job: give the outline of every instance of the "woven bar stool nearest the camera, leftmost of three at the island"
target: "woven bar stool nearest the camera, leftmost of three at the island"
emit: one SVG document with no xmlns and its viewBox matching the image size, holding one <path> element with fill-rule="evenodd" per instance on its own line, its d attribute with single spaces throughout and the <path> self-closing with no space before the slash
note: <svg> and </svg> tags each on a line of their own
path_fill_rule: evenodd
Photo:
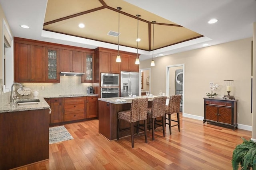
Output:
<svg viewBox="0 0 256 170">
<path fill-rule="evenodd" d="M 134 137 L 145 135 L 145 142 L 147 139 L 147 111 L 148 111 L 148 98 L 136 98 L 132 100 L 130 110 L 118 112 L 118 124 L 117 124 L 117 140 L 119 140 L 119 131 L 127 132 L 130 129 L 130 135 L 132 138 L 132 148 L 134 147 Z M 130 123 L 130 128 L 121 129 L 120 121 L 124 120 Z M 144 133 L 134 135 L 134 123 L 137 121 L 144 121 Z"/>
</svg>

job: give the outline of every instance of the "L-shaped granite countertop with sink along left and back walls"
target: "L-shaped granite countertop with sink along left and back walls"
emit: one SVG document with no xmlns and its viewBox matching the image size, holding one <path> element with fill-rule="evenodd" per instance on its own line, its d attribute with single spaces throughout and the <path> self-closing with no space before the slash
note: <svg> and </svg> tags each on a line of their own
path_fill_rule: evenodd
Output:
<svg viewBox="0 0 256 170">
<path fill-rule="evenodd" d="M 37 98 L 40 102 L 36 104 L 14 104 L 17 100 L 14 100 L 11 104 L 6 104 L 3 107 L 0 107 L 0 113 L 6 112 L 14 112 L 14 111 L 26 111 L 26 110 L 38 110 L 38 109 L 49 109 L 50 106 L 44 100 L 45 98 L 72 98 L 72 97 L 84 97 L 84 96 L 98 96 L 98 94 L 61 94 L 61 95 L 53 95 L 53 96 L 38 96 Z M 28 97 L 29 99 L 33 99 L 33 97 Z"/>
</svg>

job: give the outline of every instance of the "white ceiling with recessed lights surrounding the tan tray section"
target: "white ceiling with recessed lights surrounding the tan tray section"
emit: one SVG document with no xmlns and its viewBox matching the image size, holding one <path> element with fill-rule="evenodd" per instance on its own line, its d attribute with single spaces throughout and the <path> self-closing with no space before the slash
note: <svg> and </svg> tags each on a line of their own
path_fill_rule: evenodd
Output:
<svg viewBox="0 0 256 170">
<path fill-rule="evenodd" d="M 252 37 L 253 23 L 256 22 L 256 0 L 125 1 L 204 35 L 198 39 L 154 50 L 154 56 L 202 48 L 204 43 L 216 45 Z M 0 0 L 0 4 L 15 37 L 89 49 L 96 47 L 118 49 L 118 45 L 114 44 L 42 31 L 47 0 Z M 210 25 L 207 22 L 212 18 L 218 19 L 218 22 Z M 21 28 L 20 25 L 23 24 L 29 25 L 30 29 Z M 120 50 L 137 52 L 137 49 L 123 46 L 120 47 Z M 152 57 L 152 51 L 139 50 L 138 53 L 141 54 L 140 60 Z"/>
</svg>

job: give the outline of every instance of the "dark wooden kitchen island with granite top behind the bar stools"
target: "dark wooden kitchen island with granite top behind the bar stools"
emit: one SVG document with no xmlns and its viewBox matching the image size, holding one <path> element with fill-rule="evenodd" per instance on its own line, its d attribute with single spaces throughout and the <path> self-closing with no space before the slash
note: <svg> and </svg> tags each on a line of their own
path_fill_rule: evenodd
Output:
<svg viewBox="0 0 256 170">
<path fill-rule="evenodd" d="M 146 96 L 137 96 L 146 97 Z M 99 106 L 99 133 L 107 139 L 115 140 L 117 138 L 118 112 L 129 110 L 132 100 L 124 100 L 127 97 L 118 98 L 98 98 Z M 152 106 L 153 97 L 148 97 L 148 107 Z M 130 124 L 122 121 L 120 128 L 130 127 Z M 126 136 L 120 132 L 120 137 Z"/>
</svg>

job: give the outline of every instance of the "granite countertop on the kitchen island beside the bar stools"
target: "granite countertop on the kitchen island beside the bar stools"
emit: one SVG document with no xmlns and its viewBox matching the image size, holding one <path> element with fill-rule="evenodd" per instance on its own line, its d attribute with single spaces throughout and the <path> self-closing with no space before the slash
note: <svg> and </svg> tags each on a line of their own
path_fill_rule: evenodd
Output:
<svg viewBox="0 0 256 170">
<path fill-rule="evenodd" d="M 148 101 L 153 101 L 153 97 L 149 96 L 136 96 L 136 98 L 148 98 Z M 125 103 L 132 103 L 132 99 L 134 98 L 129 98 L 129 97 L 118 97 L 118 98 L 98 98 L 98 100 L 103 101 L 103 102 L 108 102 L 112 104 L 125 104 Z"/>
</svg>

